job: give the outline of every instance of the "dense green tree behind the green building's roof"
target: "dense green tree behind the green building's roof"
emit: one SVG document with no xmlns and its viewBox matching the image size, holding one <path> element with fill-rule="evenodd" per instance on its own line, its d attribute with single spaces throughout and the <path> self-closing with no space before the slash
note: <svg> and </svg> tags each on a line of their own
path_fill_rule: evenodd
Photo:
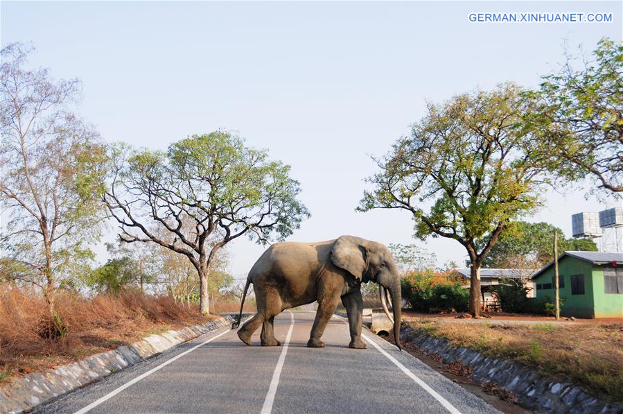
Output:
<svg viewBox="0 0 623 414">
<path fill-rule="evenodd" d="M 586 250 L 596 252 L 597 245 L 591 240 L 565 239 L 561 229 L 549 223 L 509 223 L 491 252 L 482 262 L 487 268 L 529 268 L 536 269 L 554 259 L 554 232 L 558 234 L 559 252 Z M 489 234 L 484 238 L 488 239 Z"/>
</svg>

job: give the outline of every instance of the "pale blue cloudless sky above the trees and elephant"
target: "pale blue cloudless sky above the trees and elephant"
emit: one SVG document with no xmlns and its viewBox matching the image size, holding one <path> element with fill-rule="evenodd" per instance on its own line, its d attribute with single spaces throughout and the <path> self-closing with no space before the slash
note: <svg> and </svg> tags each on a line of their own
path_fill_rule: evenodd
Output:
<svg viewBox="0 0 623 414">
<path fill-rule="evenodd" d="M 483 24 L 470 12 L 612 12 L 598 23 Z M 107 141 L 166 148 L 224 128 L 292 165 L 312 218 L 290 239 L 356 234 L 412 243 L 409 214 L 354 212 L 383 155 L 426 100 L 504 80 L 526 86 L 563 60 L 563 39 L 622 40 L 622 2 L 11 2 L 1 44 L 32 42 L 31 62 L 84 85 L 81 114 Z M 570 235 L 570 215 L 602 209 L 552 193 L 533 221 Z M 416 241 L 462 264 L 455 241 Z M 100 250 L 101 251 L 101 250 Z M 245 274 L 263 247 L 231 245 Z M 100 255 L 105 259 L 105 255 Z"/>
</svg>

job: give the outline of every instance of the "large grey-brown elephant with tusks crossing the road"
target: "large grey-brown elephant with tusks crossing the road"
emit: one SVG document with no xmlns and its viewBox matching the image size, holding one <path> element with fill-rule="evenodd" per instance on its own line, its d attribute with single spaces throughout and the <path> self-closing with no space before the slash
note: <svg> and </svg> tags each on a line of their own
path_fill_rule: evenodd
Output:
<svg viewBox="0 0 623 414">
<path fill-rule="evenodd" d="M 268 248 L 249 272 L 245 295 L 253 284 L 257 313 L 238 330 L 238 337 L 251 345 L 251 336 L 262 325 L 263 346 L 281 345 L 274 337 L 273 320 L 288 308 L 318 301 L 308 347 L 324 347 L 322 333 L 337 304 L 348 313 L 351 343 L 363 349 L 361 340 L 363 301 L 361 284 L 369 281 L 384 286 L 394 304 L 394 338 L 400 348 L 401 286 L 394 257 L 385 245 L 355 236 L 319 243 L 277 243 Z M 240 323 L 234 322 L 232 328 Z"/>
</svg>

